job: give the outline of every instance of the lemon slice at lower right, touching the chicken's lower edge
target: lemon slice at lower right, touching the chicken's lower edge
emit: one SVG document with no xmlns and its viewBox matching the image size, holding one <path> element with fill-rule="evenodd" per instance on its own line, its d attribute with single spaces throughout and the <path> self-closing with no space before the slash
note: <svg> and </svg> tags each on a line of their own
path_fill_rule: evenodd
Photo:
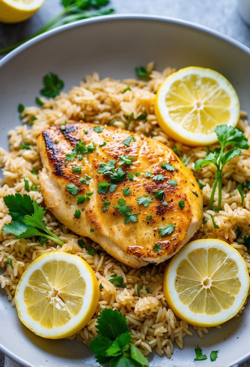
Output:
<svg viewBox="0 0 250 367">
<path fill-rule="evenodd" d="M 180 319 L 196 326 L 216 326 L 243 306 L 249 274 L 243 257 L 217 239 L 185 245 L 169 262 L 163 292 Z"/>
</svg>

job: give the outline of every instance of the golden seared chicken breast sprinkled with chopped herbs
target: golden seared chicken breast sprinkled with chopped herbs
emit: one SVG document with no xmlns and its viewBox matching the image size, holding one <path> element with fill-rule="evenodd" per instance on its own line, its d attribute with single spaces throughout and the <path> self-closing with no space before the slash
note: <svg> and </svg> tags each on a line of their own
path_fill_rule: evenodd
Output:
<svg viewBox="0 0 250 367">
<path fill-rule="evenodd" d="M 194 175 L 156 140 L 70 122 L 44 130 L 37 146 L 47 208 L 133 268 L 172 257 L 201 226 Z"/>
</svg>

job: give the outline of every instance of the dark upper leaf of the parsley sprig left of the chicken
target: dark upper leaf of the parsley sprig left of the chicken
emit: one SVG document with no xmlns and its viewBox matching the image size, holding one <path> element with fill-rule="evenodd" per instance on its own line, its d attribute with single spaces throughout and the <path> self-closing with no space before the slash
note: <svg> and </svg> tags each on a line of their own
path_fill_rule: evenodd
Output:
<svg viewBox="0 0 250 367">
<path fill-rule="evenodd" d="M 16 193 L 15 195 L 4 196 L 3 199 L 13 221 L 16 221 L 17 219 L 23 219 L 26 214 L 34 213 L 32 199 L 27 194 L 22 196 L 21 194 Z"/>
</svg>

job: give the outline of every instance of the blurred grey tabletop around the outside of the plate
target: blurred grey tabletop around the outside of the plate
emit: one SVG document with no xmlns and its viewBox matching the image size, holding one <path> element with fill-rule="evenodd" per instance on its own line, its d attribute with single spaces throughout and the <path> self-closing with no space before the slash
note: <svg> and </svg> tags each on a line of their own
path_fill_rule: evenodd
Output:
<svg viewBox="0 0 250 367">
<path fill-rule="evenodd" d="M 29 20 L 7 25 L 0 23 L 0 48 L 10 46 L 36 32 L 62 10 L 60 0 L 46 0 Z M 217 30 L 250 48 L 250 28 L 239 15 L 237 0 L 110 0 L 116 14 L 155 14 L 180 18 Z M 0 58 L 3 56 L 0 56 Z M 16 366 L 0 352 L 0 367 Z M 250 366 L 250 361 L 245 363 Z"/>
</svg>

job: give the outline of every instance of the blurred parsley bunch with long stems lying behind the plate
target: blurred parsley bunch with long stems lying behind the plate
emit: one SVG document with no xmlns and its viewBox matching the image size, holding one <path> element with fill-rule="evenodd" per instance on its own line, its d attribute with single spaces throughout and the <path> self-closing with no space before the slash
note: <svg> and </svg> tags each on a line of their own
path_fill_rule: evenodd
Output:
<svg viewBox="0 0 250 367">
<path fill-rule="evenodd" d="M 42 28 L 38 29 L 31 36 L 25 40 L 15 43 L 11 46 L 2 48 L 0 55 L 14 50 L 24 42 L 32 39 L 38 34 L 42 34 L 47 30 L 53 29 L 63 24 L 78 21 L 80 19 L 97 17 L 98 15 L 111 14 L 114 9 L 99 10 L 101 7 L 109 4 L 109 0 L 62 0 L 63 10 L 59 12 L 54 18 L 50 19 Z"/>
</svg>

